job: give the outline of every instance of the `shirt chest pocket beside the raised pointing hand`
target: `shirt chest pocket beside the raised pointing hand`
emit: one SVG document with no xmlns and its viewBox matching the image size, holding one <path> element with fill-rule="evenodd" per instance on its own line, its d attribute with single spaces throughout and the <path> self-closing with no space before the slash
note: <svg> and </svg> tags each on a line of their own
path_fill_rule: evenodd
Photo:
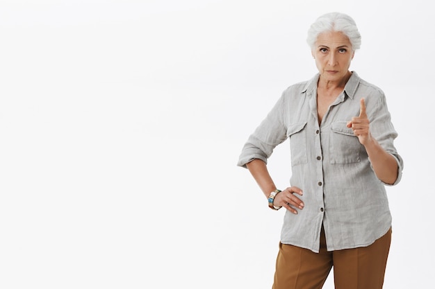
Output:
<svg viewBox="0 0 435 289">
<path fill-rule="evenodd" d="M 331 124 L 329 155 L 331 164 L 352 164 L 361 161 L 363 146 L 352 128 L 347 128 L 347 121 Z"/>
</svg>

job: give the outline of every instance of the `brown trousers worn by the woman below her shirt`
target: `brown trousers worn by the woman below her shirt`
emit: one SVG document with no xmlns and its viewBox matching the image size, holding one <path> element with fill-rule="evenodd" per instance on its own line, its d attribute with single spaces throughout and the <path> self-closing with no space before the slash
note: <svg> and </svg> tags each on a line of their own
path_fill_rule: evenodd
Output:
<svg viewBox="0 0 435 289">
<path fill-rule="evenodd" d="M 325 231 L 320 234 L 320 252 L 279 243 L 272 289 L 320 289 L 334 266 L 336 289 L 381 289 L 391 228 L 368 247 L 328 252 Z"/>
</svg>

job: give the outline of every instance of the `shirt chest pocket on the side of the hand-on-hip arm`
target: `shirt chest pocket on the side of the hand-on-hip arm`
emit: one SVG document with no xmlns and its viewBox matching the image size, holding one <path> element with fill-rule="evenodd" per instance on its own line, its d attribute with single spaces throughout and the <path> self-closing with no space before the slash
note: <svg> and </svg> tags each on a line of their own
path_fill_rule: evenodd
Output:
<svg viewBox="0 0 435 289">
<path fill-rule="evenodd" d="M 287 129 L 290 138 L 290 156 L 292 166 L 306 164 L 306 122 L 295 123 Z"/>
</svg>

